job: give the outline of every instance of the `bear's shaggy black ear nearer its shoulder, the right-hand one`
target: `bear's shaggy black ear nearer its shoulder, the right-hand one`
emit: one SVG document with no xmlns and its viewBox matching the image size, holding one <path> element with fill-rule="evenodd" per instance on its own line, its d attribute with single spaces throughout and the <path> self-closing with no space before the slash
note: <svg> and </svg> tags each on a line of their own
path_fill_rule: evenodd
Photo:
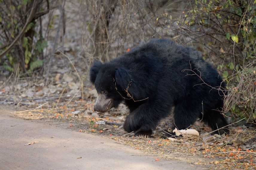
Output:
<svg viewBox="0 0 256 170">
<path fill-rule="evenodd" d="M 122 90 L 127 89 L 131 80 L 129 70 L 125 68 L 118 68 L 115 70 L 115 81 Z"/>
</svg>

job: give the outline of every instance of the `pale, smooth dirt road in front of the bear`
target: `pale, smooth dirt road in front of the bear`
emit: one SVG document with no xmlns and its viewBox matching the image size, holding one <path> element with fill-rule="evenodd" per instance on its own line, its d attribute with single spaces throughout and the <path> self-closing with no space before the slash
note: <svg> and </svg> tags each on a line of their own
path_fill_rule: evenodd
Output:
<svg viewBox="0 0 256 170">
<path fill-rule="evenodd" d="M 33 142 L 35 142 L 33 144 Z M 31 145 L 26 145 L 31 143 Z M 0 169 L 201 169 L 156 161 L 129 146 L 46 122 L 12 118 L 0 106 Z"/>
</svg>

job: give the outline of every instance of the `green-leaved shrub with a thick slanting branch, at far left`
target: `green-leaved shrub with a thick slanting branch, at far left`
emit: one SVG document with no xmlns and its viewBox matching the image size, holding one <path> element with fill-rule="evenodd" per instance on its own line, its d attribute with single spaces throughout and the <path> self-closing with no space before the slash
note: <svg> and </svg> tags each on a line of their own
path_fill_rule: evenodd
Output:
<svg viewBox="0 0 256 170">
<path fill-rule="evenodd" d="M 41 16 L 50 10 L 49 1 L 0 0 L 0 9 L 0 57 L 4 68 L 33 72 L 42 66 L 43 49 L 47 47 L 40 23 Z"/>
</svg>

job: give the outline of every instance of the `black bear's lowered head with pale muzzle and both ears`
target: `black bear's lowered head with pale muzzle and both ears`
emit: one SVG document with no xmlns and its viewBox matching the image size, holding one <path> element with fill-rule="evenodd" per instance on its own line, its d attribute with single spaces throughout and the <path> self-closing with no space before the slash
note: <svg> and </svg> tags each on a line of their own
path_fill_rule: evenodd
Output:
<svg viewBox="0 0 256 170">
<path fill-rule="evenodd" d="M 127 95 L 125 89 L 132 78 L 128 69 L 117 67 L 113 63 L 95 61 L 90 69 L 90 81 L 95 85 L 98 94 L 94 110 L 107 112 L 124 100 L 123 96 Z"/>
</svg>

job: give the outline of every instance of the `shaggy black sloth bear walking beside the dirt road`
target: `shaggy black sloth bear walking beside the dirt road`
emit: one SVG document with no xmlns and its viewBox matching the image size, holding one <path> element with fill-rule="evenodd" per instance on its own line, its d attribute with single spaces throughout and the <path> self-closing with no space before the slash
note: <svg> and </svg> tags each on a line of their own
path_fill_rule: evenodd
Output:
<svg viewBox="0 0 256 170">
<path fill-rule="evenodd" d="M 90 81 L 98 94 L 94 110 L 106 112 L 124 101 L 130 110 L 124 130 L 135 136 L 152 135 L 173 106 L 173 129 L 186 129 L 199 118 L 215 133 L 229 132 L 222 128 L 227 121 L 220 112 L 221 76 L 198 51 L 173 41 L 152 39 L 110 62 L 95 61 Z"/>
</svg>

